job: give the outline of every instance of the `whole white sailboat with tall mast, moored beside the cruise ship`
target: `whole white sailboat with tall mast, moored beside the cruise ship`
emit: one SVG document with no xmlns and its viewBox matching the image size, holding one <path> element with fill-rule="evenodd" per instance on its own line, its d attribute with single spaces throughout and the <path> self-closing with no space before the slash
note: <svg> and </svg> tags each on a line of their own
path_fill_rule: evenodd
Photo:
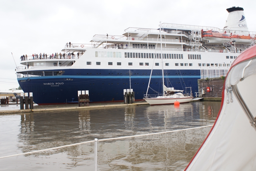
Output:
<svg viewBox="0 0 256 171">
<path fill-rule="evenodd" d="M 161 54 L 162 54 L 162 29 L 161 29 L 161 22 L 160 22 L 160 42 L 161 42 Z M 189 93 L 186 93 L 185 95 L 182 93 L 183 90 L 176 90 L 173 87 L 166 87 L 164 85 L 164 67 L 163 67 L 163 58 L 162 60 L 162 81 L 163 81 L 163 94 L 162 95 L 148 95 L 148 89 L 147 93 L 144 95 L 144 100 L 148 102 L 150 105 L 163 105 L 163 104 L 174 104 L 175 101 L 178 101 L 179 103 L 188 103 L 193 99 L 191 87 L 186 87 L 186 89 L 190 88 Z M 153 70 L 153 68 L 152 68 Z M 152 70 L 150 74 L 150 79 L 152 76 Z M 148 88 L 150 85 L 150 79 L 148 83 Z M 185 90 L 186 90 L 185 89 Z M 187 92 L 187 91 L 185 91 Z"/>
</svg>

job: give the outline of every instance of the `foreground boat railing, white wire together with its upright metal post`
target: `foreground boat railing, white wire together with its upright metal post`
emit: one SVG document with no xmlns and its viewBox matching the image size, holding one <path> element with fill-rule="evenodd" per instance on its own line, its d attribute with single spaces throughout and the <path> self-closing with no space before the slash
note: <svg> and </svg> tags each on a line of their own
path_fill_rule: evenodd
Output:
<svg viewBox="0 0 256 171">
<path fill-rule="evenodd" d="M 173 131 L 165 131 L 165 132 L 156 132 L 156 133 L 147 133 L 147 134 L 142 134 L 142 135 L 131 135 L 131 136 L 125 136 L 125 137 L 116 137 L 116 138 L 105 138 L 105 139 L 97 139 L 95 138 L 94 140 L 91 141 L 85 141 L 81 143 L 74 143 L 70 145 L 63 145 L 59 147 L 53 147 L 49 149 L 42 149 L 42 150 L 37 150 L 37 151 L 30 151 L 27 153 L 20 153 L 20 154 L 14 154 L 14 155 L 8 155 L 4 157 L 0 157 L 0 159 L 8 158 L 8 157 L 14 157 L 18 155 L 26 155 L 26 154 L 32 154 L 32 153 L 38 153 L 38 152 L 43 152 L 43 151 L 48 151 L 48 150 L 54 150 L 54 149 L 60 149 L 64 147 L 71 147 L 75 145 L 80 145 L 80 144 L 85 144 L 85 143 L 92 143 L 94 142 L 94 170 L 97 171 L 97 143 L 101 141 L 109 141 L 109 140 L 115 140 L 115 139 L 126 139 L 126 138 L 132 138 L 132 137 L 142 137 L 142 136 L 148 136 L 148 135 L 156 135 L 156 134 L 162 134 L 162 133 L 172 133 L 172 132 L 178 132 L 178 131 L 186 131 L 186 130 L 191 130 L 191 129 L 198 129 L 198 128 L 204 128 L 204 127 L 212 127 L 213 125 L 207 125 L 207 126 L 202 126 L 202 127 L 193 127 L 193 128 L 186 128 L 186 129 L 178 129 L 178 130 L 173 130 Z"/>
</svg>

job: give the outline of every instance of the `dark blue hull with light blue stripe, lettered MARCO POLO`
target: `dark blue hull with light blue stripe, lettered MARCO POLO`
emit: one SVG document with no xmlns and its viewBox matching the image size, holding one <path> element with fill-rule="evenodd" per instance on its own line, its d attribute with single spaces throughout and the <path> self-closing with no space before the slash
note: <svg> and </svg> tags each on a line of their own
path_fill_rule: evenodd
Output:
<svg viewBox="0 0 256 171">
<path fill-rule="evenodd" d="M 55 71 L 55 70 L 52 70 Z M 78 101 L 78 91 L 89 90 L 90 101 L 123 101 L 123 89 L 130 88 L 129 70 L 64 69 L 61 76 L 18 78 L 24 92 L 32 92 L 38 105 L 63 104 Z M 130 70 L 131 88 L 135 99 L 146 94 L 151 70 Z M 165 85 L 174 89 L 192 87 L 198 92 L 200 70 L 165 70 Z M 166 79 L 168 78 L 168 80 Z M 162 92 L 162 70 L 153 70 L 150 87 Z M 149 89 L 148 94 L 156 94 Z"/>
</svg>

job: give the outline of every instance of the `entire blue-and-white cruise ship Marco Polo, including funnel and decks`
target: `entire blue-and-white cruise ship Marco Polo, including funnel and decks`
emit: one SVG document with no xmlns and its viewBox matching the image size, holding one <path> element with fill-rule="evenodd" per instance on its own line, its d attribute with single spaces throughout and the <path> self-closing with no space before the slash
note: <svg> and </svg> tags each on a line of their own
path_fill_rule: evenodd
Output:
<svg viewBox="0 0 256 171">
<path fill-rule="evenodd" d="M 127 28 L 120 36 L 96 34 L 89 44 L 64 44 L 60 54 L 21 57 L 18 83 L 38 105 L 77 102 L 83 90 L 92 102 L 123 101 L 130 88 L 142 100 L 148 85 L 148 94 L 163 91 L 163 68 L 166 87 L 198 93 L 198 79 L 226 76 L 234 59 L 255 44 L 244 9 L 227 11 L 223 29 L 160 23 Z"/>
</svg>

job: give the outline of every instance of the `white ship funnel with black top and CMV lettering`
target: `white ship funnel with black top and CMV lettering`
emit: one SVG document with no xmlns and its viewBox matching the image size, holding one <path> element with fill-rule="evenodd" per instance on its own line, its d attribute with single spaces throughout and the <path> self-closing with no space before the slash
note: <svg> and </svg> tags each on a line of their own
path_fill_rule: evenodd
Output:
<svg viewBox="0 0 256 171">
<path fill-rule="evenodd" d="M 224 30 L 249 31 L 244 16 L 244 8 L 235 7 L 228 8 L 228 18 L 224 26 Z"/>
</svg>

